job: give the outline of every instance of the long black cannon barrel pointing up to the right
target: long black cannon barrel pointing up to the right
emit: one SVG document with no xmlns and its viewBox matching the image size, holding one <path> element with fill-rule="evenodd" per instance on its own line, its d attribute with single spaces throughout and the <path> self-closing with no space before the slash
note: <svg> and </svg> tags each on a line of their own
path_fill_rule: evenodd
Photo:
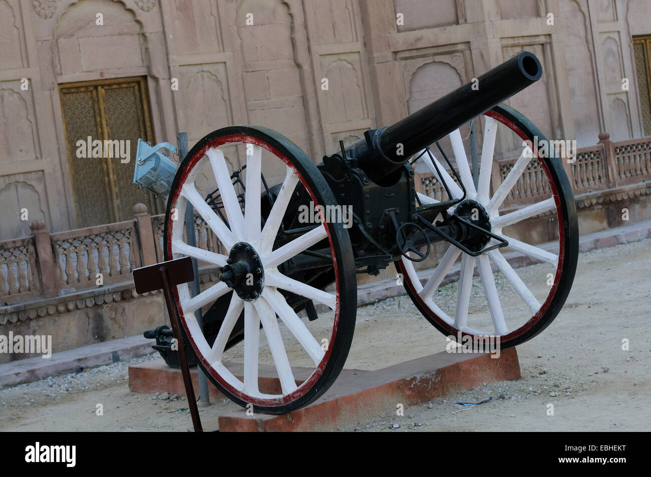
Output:
<svg viewBox="0 0 651 477">
<path fill-rule="evenodd" d="M 363 139 L 346 148 L 346 154 L 357 159 L 372 180 L 381 182 L 413 154 L 538 81 L 541 75 L 536 55 L 523 51 L 393 126 L 367 131 Z"/>
</svg>

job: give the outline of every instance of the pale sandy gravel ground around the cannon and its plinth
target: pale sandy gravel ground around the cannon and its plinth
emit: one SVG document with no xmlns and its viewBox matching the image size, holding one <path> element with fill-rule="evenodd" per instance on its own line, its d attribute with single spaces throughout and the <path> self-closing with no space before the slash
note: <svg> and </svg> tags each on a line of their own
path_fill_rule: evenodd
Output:
<svg viewBox="0 0 651 477">
<path fill-rule="evenodd" d="M 523 279 L 536 295 L 544 293 L 544 267 L 524 270 Z M 453 300 L 455 286 L 440 290 L 439 299 Z M 497 288 L 505 299 L 505 312 L 523 309 L 519 297 L 499 276 Z M 471 311 L 481 300 L 473 287 Z M 522 379 L 487 383 L 409 407 L 404 416 L 387 409 L 372 421 L 342 430 L 648 430 L 649 316 L 651 240 L 581 254 L 574 287 L 561 314 L 542 334 L 518 346 Z M 327 320 L 323 323 L 327 336 Z M 287 333 L 283 327 L 281 332 Z M 628 350 L 622 349 L 624 339 Z M 291 357 L 294 351 L 289 348 Z M 359 308 L 346 368 L 378 369 L 443 349 L 445 336 L 422 318 L 409 297 L 396 297 Z M 237 356 L 238 351 L 233 351 L 232 357 Z M 148 359 L 157 358 L 152 355 L 132 363 Z M 191 426 L 185 398 L 130 392 L 128 364 L 0 390 L 0 431 L 185 431 Z M 455 404 L 490 397 L 491 402 L 477 406 Z M 98 415 L 98 404 L 103 415 Z M 549 415 L 550 405 L 553 415 Z M 217 415 L 234 409 L 238 406 L 228 400 L 213 400 L 201 408 L 204 428 L 216 428 Z M 393 429 L 395 424 L 400 428 Z"/>
</svg>

